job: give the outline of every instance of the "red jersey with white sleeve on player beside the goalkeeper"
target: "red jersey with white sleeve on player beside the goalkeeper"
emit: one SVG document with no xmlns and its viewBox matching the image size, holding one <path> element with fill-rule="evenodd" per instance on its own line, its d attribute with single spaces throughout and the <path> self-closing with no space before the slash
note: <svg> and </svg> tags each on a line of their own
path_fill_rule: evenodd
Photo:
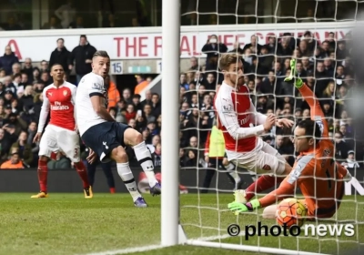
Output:
<svg viewBox="0 0 364 255">
<path fill-rule="evenodd" d="M 255 107 L 251 106 L 249 90 L 246 86 L 234 88 L 222 84 L 218 89 L 214 100 L 217 111 L 217 127 L 223 131 L 225 138 L 225 148 L 230 151 L 248 152 L 257 145 L 257 137 L 233 138 L 227 128 L 250 128 L 250 124 L 255 124 Z"/>
</svg>

